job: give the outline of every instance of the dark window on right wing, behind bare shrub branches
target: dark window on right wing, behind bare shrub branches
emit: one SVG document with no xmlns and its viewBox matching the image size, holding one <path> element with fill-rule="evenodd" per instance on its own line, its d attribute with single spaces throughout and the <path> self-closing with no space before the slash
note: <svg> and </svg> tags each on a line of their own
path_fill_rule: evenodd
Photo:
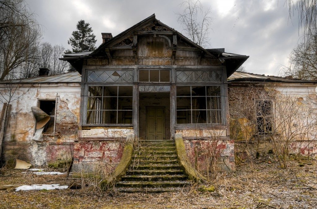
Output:
<svg viewBox="0 0 317 209">
<path fill-rule="evenodd" d="M 272 131 L 272 101 L 256 100 L 256 125 L 259 134 Z"/>
</svg>

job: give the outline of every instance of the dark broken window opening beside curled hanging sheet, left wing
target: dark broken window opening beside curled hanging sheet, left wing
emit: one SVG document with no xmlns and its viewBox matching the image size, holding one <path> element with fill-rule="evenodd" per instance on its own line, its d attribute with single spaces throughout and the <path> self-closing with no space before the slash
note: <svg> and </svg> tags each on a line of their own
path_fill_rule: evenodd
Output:
<svg viewBox="0 0 317 209">
<path fill-rule="evenodd" d="M 55 124 L 55 100 L 40 100 L 40 109 L 50 116 L 49 122 L 44 126 L 43 133 L 54 133 Z"/>
</svg>

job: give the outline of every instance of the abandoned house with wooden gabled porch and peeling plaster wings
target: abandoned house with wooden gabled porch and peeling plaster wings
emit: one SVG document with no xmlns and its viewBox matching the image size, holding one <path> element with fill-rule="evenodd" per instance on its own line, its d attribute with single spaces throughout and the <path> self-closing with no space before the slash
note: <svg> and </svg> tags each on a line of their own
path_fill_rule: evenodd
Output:
<svg viewBox="0 0 317 209">
<path fill-rule="evenodd" d="M 77 72 L 19 81 L 4 134 L 6 160 L 41 166 L 73 157 L 72 171 L 89 173 L 100 164 L 114 169 L 128 134 L 154 144 L 173 144 L 178 134 L 193 166 L 206 167 L 212 147 L 219 167 L 234 170 L 235 143 L 243 149 L 243 141 L 263 135 L 266 143 L 275 129 L 274 118 L 263 116 L 272 116 L 278 105 L 270 93 L 296 95 L 296 104 L 310 107 L 314 123 L 316 82 L 235 72 L 249 56 L 204 49 L 155 15 L 117 36 L 102 33 L 102 39 L 93 52 L 61 58 Z M 0 85 L 2 91 L 12 90 Z M 50 117 L 40 141 L 32 140 L 33 106 Z M 239 128 L 230 121 L 238 121 Z M 242 125 L 254 130 L 237 134 Z M 294 141 L 293 152 L 316 154 L 314 131 L 301 139 L 305 143 Z"/>
</svg>

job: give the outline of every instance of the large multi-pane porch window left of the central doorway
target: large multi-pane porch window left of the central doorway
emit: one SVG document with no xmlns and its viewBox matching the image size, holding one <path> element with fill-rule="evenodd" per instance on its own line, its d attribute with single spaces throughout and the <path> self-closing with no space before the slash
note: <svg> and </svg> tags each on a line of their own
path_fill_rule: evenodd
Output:
<svg viewBox="0 0 317 209">
<path fill-rule="evenodd" d="M 132 86 L 89 86 L 87 124 L 132 124 Z"/>
</svg>

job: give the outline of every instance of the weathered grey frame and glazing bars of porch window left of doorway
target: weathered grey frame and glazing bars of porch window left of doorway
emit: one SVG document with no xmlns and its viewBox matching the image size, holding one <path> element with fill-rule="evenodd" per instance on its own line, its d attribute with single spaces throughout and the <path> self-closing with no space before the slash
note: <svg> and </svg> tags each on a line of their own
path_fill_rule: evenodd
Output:
<svg viewBox="0 0 317 209">
<path fill-rule="evenodd" d="M 109 109 L 109 110 L 104 110 L 104 109 L 100 109 L 100 110 L 88 110 L 87 109 L 87 102 L 88 102 L 88 98 L 93 98 L 93 97 L 98 97 L 98 96 L 88 96 L 88 92 L 89 92 L 89 87 L 92 87 L 92 86 L 98 86 L 98 87 L 117 87 L 117 95 L 116 96 L 102 96 L 102 97 L 115 97 L 117 99 L 117 107 L 116 107 L 116 110 L 112 110 L 112 109 Z M 120 86 L 129 86 L 129 87 L 132 87 L 132 95 L 131 96 L 119 96 L 118 93 L 119 93 L 119 87 Z M 103 88 L 104 89 L 104 88 Z M 120 83 L 103 83 L 103 84 L 100 84 L 100 83 L 89 83 L 89 84 L 86 84 L 85 85 L 85 89 L 84 89 L 84 99 L 83 99 L 83 117 L 82 117 L 82 126 L 127 126 L 127 127 L 131 127 L 133 126 L 133 112 L 134 112 L 134 109 L 133 109 L 133 85 L 132 84 L 120 84 Z M 118 107 L 118 98 L 119 97 L 129 97 L 129 98 L 132 98 L 132 110 L 124 110 L 124 109 L 119 109 Z M 125 106 L 126 108 L 126 106 Z M 88 111 L 116 111 L 116 121 L 117 123 L 87 123 L 87 113 Z M 124 123 L 118 123 L 118 111 L 131 111 L 132 112 L 132 123 L 129 123 L 129 124 L 124 124 Z"/>
</svg>

